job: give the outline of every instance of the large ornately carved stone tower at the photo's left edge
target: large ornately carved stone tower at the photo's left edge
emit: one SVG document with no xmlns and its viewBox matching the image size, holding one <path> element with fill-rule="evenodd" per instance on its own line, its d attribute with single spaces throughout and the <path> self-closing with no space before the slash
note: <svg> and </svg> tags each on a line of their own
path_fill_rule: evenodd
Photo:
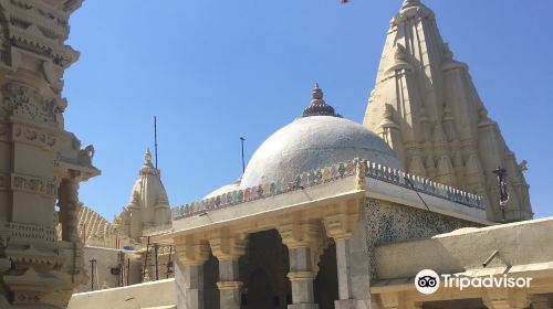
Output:
<svg viewBox="0 0 553 309">
<path fill-rule="evenodd" d="M 77 190 L 100 171 L 93 147 L 64 130 L 62 97 L 81 2 L 0 0 L 0 308 L 62 308 L 86 280 Z"/>
</svg>

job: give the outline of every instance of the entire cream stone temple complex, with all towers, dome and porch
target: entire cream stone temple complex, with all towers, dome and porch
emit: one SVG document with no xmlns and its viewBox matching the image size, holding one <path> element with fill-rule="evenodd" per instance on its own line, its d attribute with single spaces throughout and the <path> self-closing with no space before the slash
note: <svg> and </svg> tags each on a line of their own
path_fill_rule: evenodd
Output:
<svg viewBox="0 0 553 309">
<path fill-rule="evenodd" d="M 236 182 L 184 205 L 145 149 L 113 221 L 80 201 L 101 171 L 64 129 L 81 0 L 0 6 L 1 309 L 553 308 L 553 219 L 421 1 L 390 22 L 363 124 L 315 84 Z M 532 280 L 424 294 L 422 269 Z"/>
</svg>

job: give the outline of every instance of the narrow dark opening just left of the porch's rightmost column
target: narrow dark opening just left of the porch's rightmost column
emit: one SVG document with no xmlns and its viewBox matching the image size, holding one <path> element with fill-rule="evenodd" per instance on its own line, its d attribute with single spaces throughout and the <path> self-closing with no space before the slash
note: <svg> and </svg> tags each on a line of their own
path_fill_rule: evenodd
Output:
<svg viewBox="0 0 553 309">
<path fill-rule="evenodd" d="M 334 309 L 338 299 L 338 275 L 336 268 L 336 245 L 332 239 L 319 262 L 319 273 L 313 283 L 315 302 L 320 309 Z"/>
</svg>

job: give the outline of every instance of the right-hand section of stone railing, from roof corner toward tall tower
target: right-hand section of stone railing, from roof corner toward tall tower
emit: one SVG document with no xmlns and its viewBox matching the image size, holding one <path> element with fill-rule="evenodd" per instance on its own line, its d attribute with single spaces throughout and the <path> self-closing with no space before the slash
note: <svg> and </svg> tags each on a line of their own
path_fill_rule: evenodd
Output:
<svg viewBox="0 0 553 309">
<path fill-rule="evenodd" d="M 409 174 L 404 171 L 390 169 L 388 167 L 384 167 L 374 162 L 364 161 L 364 163 L 365 177 L 367 178 L 377 179 L 411 190 L 417 190 L 418 192 L 449 200 L 451 202 L 463 204 L 469 207 L 479 210 L 486 209 L 482 196 L 480 195 L 471 194 L 455 189 L 451 185 L 437 183 L 424 177 Z"/>
</svg>

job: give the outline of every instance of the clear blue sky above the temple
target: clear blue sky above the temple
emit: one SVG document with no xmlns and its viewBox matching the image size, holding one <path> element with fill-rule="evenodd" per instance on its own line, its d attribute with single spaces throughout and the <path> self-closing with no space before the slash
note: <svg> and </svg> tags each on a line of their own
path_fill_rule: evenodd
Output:
<svg viewBox="0 0 553 309">
<path fill-rule="evenodd" d="M 71 19 L 81 54 L 65 74 L 66 129 L 93 143 L 102 175 L 80 198 L 112 220 L 154 145 L 171 206 L 241 174 L 310 103 L 319 82 L 361 122 L 400 0 L 88 0 Z M 426 0 L 519 161 L 536 217 L 553 215 L 551 0 Z"/>
</svg>

